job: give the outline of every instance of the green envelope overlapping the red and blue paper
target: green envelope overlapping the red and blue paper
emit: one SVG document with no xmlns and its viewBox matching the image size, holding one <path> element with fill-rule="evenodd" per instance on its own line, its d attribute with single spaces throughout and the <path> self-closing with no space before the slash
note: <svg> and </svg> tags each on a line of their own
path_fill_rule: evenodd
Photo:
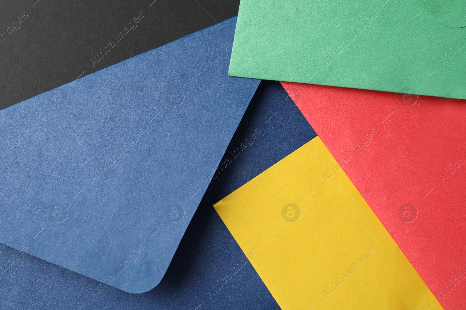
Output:
<svg viewBox="0 0 466 310">
<path fill-rule="evenodd" d="M 241 0 L 229 75 L 466 99 L 465 0 Z"/>
</svg>

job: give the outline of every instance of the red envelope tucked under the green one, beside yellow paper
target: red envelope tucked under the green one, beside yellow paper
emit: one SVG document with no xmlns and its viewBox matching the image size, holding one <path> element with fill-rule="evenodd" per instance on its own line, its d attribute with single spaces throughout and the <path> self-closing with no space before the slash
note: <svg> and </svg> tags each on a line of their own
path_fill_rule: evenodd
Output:
<svg viewBox="0 0 466 310">
<path fill-rule="evenodd" d="M 281 84 L 441 305 L 465 309 L 466 100 Z"/>
</svg>

